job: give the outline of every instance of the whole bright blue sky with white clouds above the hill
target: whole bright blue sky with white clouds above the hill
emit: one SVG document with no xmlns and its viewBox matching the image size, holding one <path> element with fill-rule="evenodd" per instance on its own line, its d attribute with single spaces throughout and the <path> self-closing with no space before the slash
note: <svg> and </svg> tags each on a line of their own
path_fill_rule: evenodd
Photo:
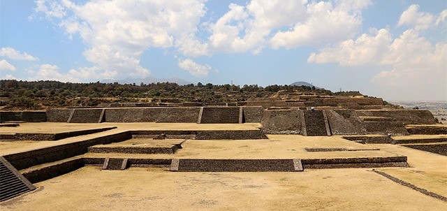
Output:
<svg viewBox="0 0 447 211">
<path fill-rule="evenodd" d="M 0 1 L 0 78 L 312 82 L 447 100 L 447 5 L 432 1 Z"/>
</svg>

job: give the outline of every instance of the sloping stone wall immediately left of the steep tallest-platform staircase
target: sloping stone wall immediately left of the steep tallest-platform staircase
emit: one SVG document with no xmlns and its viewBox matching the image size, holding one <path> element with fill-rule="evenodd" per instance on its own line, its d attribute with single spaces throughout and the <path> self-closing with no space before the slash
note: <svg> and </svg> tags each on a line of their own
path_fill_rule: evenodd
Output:
<svg viewBox="0 0 447 211">
<path fill-rule="evenodd" d="M 302 110 L 265 110 L 262 130 L 270 134 L 302 134 Z"/>
</svg>

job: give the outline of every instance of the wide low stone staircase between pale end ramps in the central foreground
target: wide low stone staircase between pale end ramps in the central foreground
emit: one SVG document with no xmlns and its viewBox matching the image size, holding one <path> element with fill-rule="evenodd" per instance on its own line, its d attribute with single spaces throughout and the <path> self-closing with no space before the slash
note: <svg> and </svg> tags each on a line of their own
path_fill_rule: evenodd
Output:
<svg viewBox="0 0 447 211">
<path fill-rule="evenodd" d="M 283 172 L 302 171 L 300 159 L 173 159 L 171 171 Z"/>
</svg>

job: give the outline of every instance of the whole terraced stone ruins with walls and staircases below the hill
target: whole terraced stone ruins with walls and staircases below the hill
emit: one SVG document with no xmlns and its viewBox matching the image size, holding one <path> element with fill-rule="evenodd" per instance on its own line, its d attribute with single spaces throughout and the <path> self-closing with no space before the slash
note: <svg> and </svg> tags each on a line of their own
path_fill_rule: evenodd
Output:
<svg viewBox="0 0 447 211">
<path fill-rule="evenodd" d="M 52 143 L 66 138 L 85 136 L 82 140 L 43 148 L 4 154 L 3 166 L 13 166 L 20 180 L 20 190 L 2 196 L 0 201 L 33 189 L 31 183 L 57 177 L 82 168 L 98 166 L 103 170 L 125 170 L 131 166 L 170 167 L 172 171 L 302 171 L 307 168 L 381 168 L 406 167 L 406 157 L 400 155 L 377 157 L 335 157 L 314 159 L 178 159 L 166 158 L 182 149 L 185 140 L 262 140 L 269 134 L 298 134 L 302 136 L 344 135 L 356 144 L 404 144 L 406 147 L 446 155 L 445 138 L 394 139 L 395 135 L 446 134 L 445 127 L 427 110 L 404 110 L 385 106 L 382 99 L 290 95 L 288 99 L 224 103 L 179 103 L 168 100 L 170 106 L 112 108 L 50 108 L 35 112 L 0 112 L 0 122 L 60 122 L 79 123 L 190 123 L 234 124 L 258 123 L 253 129 L 127 129 L 116 126 L 61 133 L 0 133 L 0 141 L 41 141 Z M 423 125 L 423 126 L 418 126 Z M 115 131 L 114 131 L 115 130 Z M 101 136 L 90 135 L 107 133 Z M 108 133 L 110 132 L 110 133 Z M 135 139 L 178 139 L 166 145 L 113 145 Z M 343 140 L 343 141 L 346 141 Z M 349 141 L 346 141 L 351 143 Z M 417 144 L 417 145 L 413 145 Z M 379 149 L 348 149 L 344 147 L 309 147 L 309 153 L 379 151 Z M 362 152 L 363 152 L 362 151 Z M 368 152 L 369 152 L 368 151 Z M 94 154 L 94 156 L 82 156 Z M 98 156 L 100 154 L 101 156 Z M 108 154 L 121 154 L 110 157 Z M 163 154 L 162 158 L 126 157 L 126 154 Z M 6 164 L 4 164 L 6 163 Z M 3 166 L 2 166 L 3 165 Z M 9 169 L 9 168 L 8 168 Z M 10 171 L 10 170 L 8 170 Z M 12 171 L 11 171 L 12 172 Z M 29 181 L 27 183 L 27 181 Z M 31 185 L 30 185 L 31 184 Z"/>
</svg>

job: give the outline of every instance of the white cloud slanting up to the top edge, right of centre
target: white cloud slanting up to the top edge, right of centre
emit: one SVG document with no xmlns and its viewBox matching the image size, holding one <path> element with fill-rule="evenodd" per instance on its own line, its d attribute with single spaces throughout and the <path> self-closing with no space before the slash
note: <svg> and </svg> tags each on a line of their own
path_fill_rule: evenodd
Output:
<svg viewBox="0 0 447 211">
<path fill-rule="evenodd" d="M 360 9 L 369 5 L 370 1 L 309 3 L 307 19 L 297 22 L 288 31 L 274 34 L 270 39 L 272 48 L 289 49 L 343 41 L 357 33 L 362 23 Z"/>
</svg>

